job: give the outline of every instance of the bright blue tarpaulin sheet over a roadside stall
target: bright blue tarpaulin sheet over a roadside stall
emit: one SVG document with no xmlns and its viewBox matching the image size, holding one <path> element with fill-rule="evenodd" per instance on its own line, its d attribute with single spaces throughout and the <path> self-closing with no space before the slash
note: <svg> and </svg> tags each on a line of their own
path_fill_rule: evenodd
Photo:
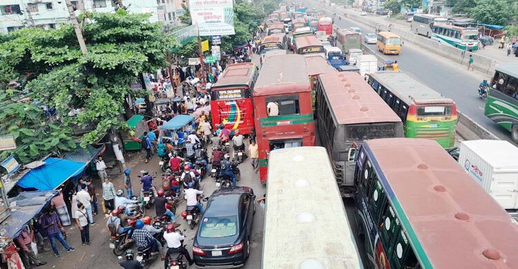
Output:
<svg viewBox="0 0 518 269">
<path fill-rule="evenodd" d="M 45 164 L 30 170 L 18 181 L 21 188 L 35 188 L 37 190 L 54 190 L 71 177 L 75 177 L 86 168 L 86 163 L 68 161 L 64 159 L 47 158 Z"/>
</svg>

